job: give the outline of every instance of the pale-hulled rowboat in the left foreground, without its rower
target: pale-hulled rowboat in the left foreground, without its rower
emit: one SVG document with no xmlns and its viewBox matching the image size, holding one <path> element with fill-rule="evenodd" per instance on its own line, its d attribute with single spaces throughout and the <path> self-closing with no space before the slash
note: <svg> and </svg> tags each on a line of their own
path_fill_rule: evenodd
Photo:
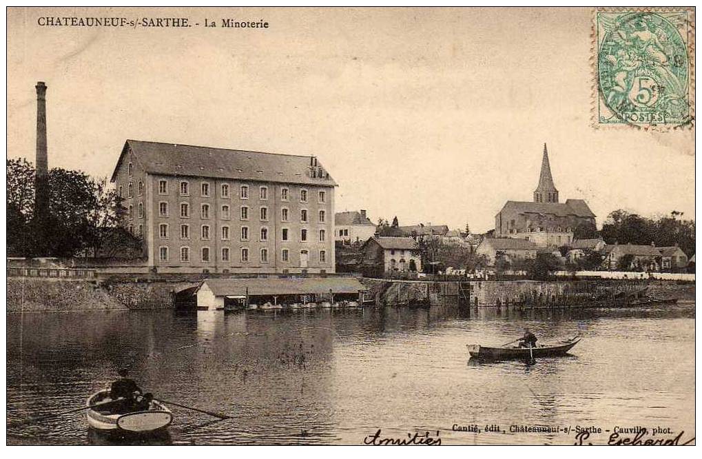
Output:
<svg viewBox="0 0 702 459">
<path fill-rule="evenodd" d="M 86 406 L 110 400 L 110 391 L 101 390 L 88 397 Z M 99 432 L 121 434 L 149 434 L 161 432 L 171 425 L 173 414 L 159 401 L 152 401 L 148 411 L 112 413 L 110 405 L 96 406 L 86 411 L 88 425 Z"/>
</svg>

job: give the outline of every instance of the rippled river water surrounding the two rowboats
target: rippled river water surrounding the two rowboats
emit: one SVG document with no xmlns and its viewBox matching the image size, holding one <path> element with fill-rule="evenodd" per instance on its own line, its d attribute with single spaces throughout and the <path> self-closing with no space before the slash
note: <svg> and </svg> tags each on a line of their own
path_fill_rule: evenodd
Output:
<svg viewBox="0 0 702 459">
<path fill-rule="evenodd" d="M 7 315 L 8 422 L 82 406 L 129 366 L 173 408 L 172 444 L 362 444 L 429 432 L 442 444 L 574 444 L 576 426 L 694 437 L 693 304 L 456 312 L 432 308 Z M 467 344 L 529 327 L 581 333 L 570 357 L 479 364 Z M 453 430 L 477 425 L 482 432 Z M 501 432 L 485 432 L 496 425 Z M 509 432 L 510 425 L 568 432 Z M 605 432 L 609 430 L 610 432 Z M 623 435 L 626 437 L 627 435 Z M 633 434 L 628 435 L 633 437 Z M 84 413 L 8 427 L 9 444 L 106 444 Z"/>
</svg>

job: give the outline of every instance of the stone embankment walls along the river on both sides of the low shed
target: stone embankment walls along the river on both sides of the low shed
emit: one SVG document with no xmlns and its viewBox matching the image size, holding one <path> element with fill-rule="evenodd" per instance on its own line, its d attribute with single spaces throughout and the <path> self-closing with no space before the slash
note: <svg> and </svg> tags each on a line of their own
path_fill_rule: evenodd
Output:
<svg viewBox="0 0 702 459">
<path fill-rule="evenodd" d="M 695 284 L 675 281 L 471 281 L 361 279 L 366 306 L 557 307 L 588 305 L 592 295 L 645 291 L 649 298 L 694 300 Z M 52 279 L 9 277 L 6 312 L 158 310 L 175 307 L 178 292 L 197 286 L 185 279 Z M 643 289 L 643 290 L 642 290 Z"/>
</svg>

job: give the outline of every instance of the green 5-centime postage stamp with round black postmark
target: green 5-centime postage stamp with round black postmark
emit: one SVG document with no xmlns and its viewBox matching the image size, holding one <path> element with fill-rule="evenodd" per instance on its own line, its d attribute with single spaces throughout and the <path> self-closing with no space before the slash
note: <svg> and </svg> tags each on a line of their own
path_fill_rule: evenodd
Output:
<svg viewBox="0 0 702 459">
<path fill-rule="evenodd" d="M 597 9 L 595 126 L 691 126 L 694 11 Z"/>
</svg>

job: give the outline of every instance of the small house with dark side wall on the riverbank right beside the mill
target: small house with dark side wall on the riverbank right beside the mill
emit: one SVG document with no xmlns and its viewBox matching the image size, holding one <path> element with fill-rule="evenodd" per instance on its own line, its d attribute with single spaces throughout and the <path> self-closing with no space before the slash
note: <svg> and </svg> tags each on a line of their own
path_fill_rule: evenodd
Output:
<svg viewBox="0 0 702 459">
<path fill-rule="evenodd" d="M 362 248 L 362 270 L 375 277 L 385 272 L 420 272 L 419 245 L 411 237 L 371 237 Z"/>
</svg>

